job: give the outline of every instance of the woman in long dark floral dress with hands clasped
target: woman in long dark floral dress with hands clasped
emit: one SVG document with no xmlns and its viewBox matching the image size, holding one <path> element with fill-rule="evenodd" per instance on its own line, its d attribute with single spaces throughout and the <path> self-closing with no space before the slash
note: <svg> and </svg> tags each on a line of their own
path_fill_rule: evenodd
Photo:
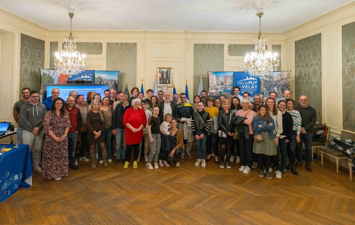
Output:
<svg viewBox="0 0 355 225">
<path fill-rule="evenodd" d="M 68 175 L 68 138 L 70 120 L 63 100 L 56 98 L 52 108 L 44 115 L 42 178 L 60 180 Z"/>
</svg>

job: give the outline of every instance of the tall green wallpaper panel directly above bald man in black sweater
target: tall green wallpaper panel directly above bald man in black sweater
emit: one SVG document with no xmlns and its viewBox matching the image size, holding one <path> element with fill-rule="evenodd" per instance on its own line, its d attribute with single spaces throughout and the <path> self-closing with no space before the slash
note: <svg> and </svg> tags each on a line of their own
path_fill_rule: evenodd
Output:
<svg viewBox="0 0 355 225">
<path fill-rule="evenodd" d="M 322 35 L 295 41 L 295 99 L 306 95 L 322 121 Z"/>
</svg>

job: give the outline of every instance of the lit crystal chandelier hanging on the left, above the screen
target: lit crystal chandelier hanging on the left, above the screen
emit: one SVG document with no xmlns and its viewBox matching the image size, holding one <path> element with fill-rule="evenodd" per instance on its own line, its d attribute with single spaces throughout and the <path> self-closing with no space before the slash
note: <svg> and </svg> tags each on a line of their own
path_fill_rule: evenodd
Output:
<svg viewBox="0 0 355 225">
<path fill-rule="evenodd" d="M 76 51 L 76 43 L 78 37 L 73 37 L 71 34 L 71 20 L 74 16 L 74 10 L 68 10 L 70 17 L 70 35 L 64 36 L 63 41 L 64 49 L 61 52 L 55 54 L 54 69 L 58 70 L 60 74 L 68 74 L 69 77 L 72 74 L 78 74 L 85 70 L 85 60 L 81 60 L 80 52 Z"/>
</svg>

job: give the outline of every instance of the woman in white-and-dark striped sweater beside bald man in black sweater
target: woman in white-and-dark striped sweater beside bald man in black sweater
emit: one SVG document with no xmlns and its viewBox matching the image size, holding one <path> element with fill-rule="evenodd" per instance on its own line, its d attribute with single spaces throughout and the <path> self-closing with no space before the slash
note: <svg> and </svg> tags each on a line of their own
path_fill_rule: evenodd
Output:
<svg viewBox="0 0 355 225">
<path fill-rule="evenodd" d="M 287 154 L 289 157 L 290 164 L 288 167 L 291 168 L 291 172 L 295 175 L 298 175 L 295 169 L 295 160 L 296 160 L 296 155 L 295 155 L 295 149 L 296 149 L 296 143 L 300 142 L 300 133 L 301 133 L 301 115 L 299 111 L 293 109 L 294 105 L 292 102 L 292 99 L 287 99 L 286 100 L 286 111 L 291 114 L 292 119 L 293 119 L 293 129 L 292 129 L 292 136 L 291 140 L 287 146 Z M 287 168 L 288 168 L 287 167 Z"/>
</svg>

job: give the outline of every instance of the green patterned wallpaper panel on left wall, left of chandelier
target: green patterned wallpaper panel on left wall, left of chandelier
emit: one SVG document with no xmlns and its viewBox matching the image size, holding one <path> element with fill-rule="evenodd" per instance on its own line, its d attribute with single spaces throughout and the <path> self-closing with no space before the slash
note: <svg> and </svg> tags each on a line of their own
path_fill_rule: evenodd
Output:
<svg viewBox="0 0 355 225">
<path fill-rule="evenodd" d="M 39 69 L 44 68 L 45 41 L 21 34 L 20 90 L 40 90 Z M 21 99 L 21 94 L 20 94 Z"/>
</svg>

